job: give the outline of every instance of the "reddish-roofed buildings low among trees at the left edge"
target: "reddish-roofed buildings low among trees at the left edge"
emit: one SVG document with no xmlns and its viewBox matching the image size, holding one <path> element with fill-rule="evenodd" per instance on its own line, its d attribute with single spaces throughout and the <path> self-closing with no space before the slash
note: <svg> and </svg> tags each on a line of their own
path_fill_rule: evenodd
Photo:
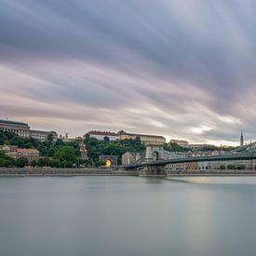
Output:
<svg viewBox="0 0 256 256">
<path fill-rule="evenodd" d="M 4 151 L 6 155 L 18 159 L 26 157 L 30 162 L 39 159 L 39 151 L 33 148 L 25 149 L 18 148 L 17 146 L 0 145 L 0 150 Z"/>
</svg>

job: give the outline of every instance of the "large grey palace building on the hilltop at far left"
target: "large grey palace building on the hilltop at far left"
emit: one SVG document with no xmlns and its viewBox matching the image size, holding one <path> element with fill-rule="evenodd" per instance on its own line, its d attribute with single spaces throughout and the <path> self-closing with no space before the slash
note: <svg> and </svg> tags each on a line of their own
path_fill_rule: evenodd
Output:
<svg viewBox="0 0 256 256">
<path fill-rule="evenodd" d="M 47 141 L 49 134 L 53 135 L 53 140 L 58 138 L 58 134 L 55 131 L 33 130 L 30 129 L 28 124 L 19 121 L 0 119 L 0 130 L 12 131 L 21 138 L 34 138 L 39 141 Z"/>
</svg>

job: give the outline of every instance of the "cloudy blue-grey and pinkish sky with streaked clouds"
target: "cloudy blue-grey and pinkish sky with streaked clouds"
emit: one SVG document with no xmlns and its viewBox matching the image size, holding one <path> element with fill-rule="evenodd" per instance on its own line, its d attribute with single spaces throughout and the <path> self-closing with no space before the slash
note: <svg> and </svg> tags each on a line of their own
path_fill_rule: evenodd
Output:
<svg viewBox="0 0 256 256">
<path fill-rule="evenodd" d="M 0 0 L 0 118 L 256 140 L 256 2 Z"/>
</svg>

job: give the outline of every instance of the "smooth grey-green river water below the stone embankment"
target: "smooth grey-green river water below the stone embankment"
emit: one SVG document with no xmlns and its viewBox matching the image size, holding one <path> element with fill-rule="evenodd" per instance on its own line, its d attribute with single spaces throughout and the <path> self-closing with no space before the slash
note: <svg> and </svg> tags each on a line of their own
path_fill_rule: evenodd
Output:
<svg viewBox="0 0 256 256">
<path fill-rule="evenodd" d="M 256 255 L 256 177 L 0 179 L 0 255 Z"/>
</svg>

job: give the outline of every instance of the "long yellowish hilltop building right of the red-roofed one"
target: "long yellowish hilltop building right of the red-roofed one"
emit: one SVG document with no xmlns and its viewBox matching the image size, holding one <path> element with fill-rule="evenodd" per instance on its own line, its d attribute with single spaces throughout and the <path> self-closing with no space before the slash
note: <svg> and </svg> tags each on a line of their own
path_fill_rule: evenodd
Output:
<svg viewBox="0 0 256 256">
<path fill-rule="evenodd" d="M 136 139 L 137 137 L 140 138 L 141 142 L 157 142 L 157 143 L 165 143 L 166 138 L 159 135 L 149 135 L 149 134 L 135 134 L 135 133 L 128 133 L 124 130 L 120 130 L 117 132 L 119 135 L 119 140 L 127 140 L 127 139 Z"/>
</svg>

